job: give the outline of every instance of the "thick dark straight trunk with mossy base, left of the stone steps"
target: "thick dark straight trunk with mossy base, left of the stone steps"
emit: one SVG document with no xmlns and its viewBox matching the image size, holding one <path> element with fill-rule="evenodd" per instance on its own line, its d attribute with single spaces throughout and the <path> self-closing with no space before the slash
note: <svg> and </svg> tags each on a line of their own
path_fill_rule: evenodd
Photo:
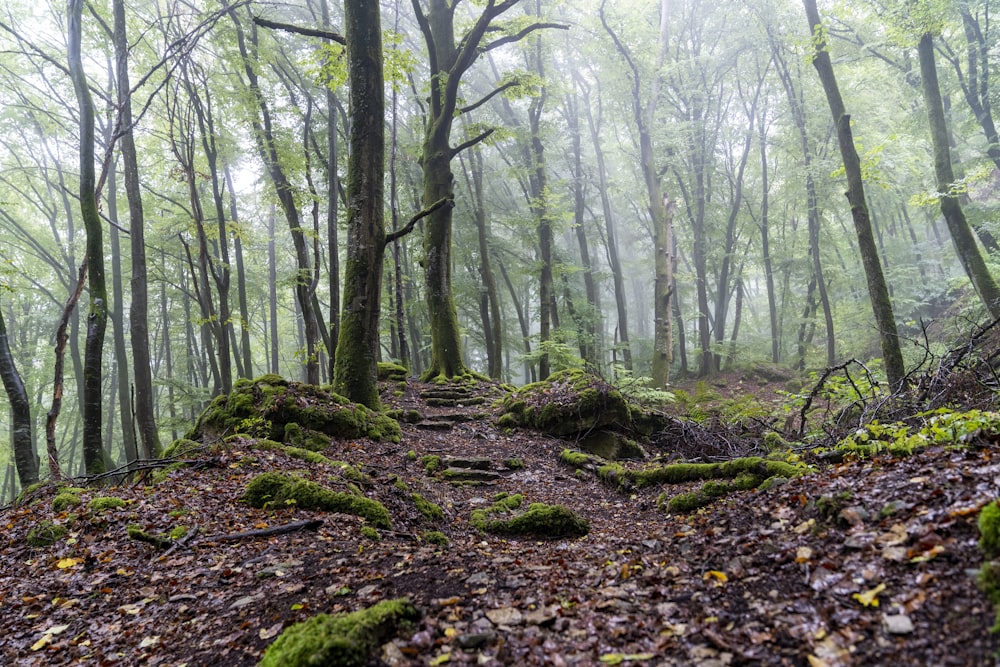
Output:
<svg viewBox="0 0 1000 667">
<path fill-rule="evenodd" d="M 344 25 L 351 86 L 351 150 L 347 164 L 344 310 L 333 384 L 338 393 L 377 410 L 379 304 L 385 254 L 385 94 L 379 4 L 347 0 Z"/>
</svg>

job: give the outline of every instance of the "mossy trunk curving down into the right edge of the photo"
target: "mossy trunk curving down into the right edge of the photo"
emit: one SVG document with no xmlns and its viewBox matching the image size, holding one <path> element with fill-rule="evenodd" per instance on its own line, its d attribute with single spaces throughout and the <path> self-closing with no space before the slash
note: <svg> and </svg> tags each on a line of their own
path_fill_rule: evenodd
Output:
<svg viewBox="0 0 1000 667">
<path fill-rule="evenodd" d="M 962 268 L 976 288 L 979 298 L 994 318 L 1000 317 L 1000 288 L 990 275 L 983 260 L 976 238 L 965 219 L 965 212 L 953 192 L 955 174 L 951 165 L 951 150 L 948 146 L 948 124 L 945 120 L 941 89 L 938 85 L 937 68 L 934 63 L 934 39 L 927 33 L 917 45 L 920 56 L 920 78 L 923 84 L 924 104 L 931 128 L 931 142 L 934 145 L 934 174 L 937 177 L 938 197 L 941 213 L 948 223 L 948 231 L 955 244 L 955 251 L 962 262 Z"/>
</svg>

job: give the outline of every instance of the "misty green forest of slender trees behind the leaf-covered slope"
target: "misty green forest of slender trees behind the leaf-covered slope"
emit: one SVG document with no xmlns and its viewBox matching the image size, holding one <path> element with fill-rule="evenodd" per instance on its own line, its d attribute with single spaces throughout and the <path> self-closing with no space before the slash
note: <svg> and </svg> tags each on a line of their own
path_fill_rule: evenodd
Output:
<svg viewBox="0 0 1000 667">
<path fill-rule="evenodd" d="M 2 432 L 44 435 L 42 470 L 148 458 L 239 378 L 334 382 L 356 306 L 375 340 L 337 386 L 370 407 L 345 383 L 377 360 L 667 389 L 857 358 L 896 383 L 996 314 L 989 3 L 382 4 L 387 236 L 357 259 L 372 114 L 342 7 L 9 4 Z"/>
</svg>

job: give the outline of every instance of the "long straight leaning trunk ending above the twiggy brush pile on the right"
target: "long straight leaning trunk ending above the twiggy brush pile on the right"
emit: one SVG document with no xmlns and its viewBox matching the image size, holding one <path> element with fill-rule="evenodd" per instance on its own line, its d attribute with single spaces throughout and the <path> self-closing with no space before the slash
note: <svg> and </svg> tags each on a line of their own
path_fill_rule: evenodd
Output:
<svg viewBox="0 0 1000 667">
<path fill-rule="evenodd" d="M 865 276 L 868 279 L 868 294 L 872 302 L 875 323 L 879 330 L 879 340 L 882 344 L 882 358 L 885 371 L 892 389 L 898 389 L 905 380 L 903 353 L 899 347 L 899 334 L 896 329 L 896 319 L 892 312 L 892 302 L 889 300 L 889 289 L 886 286 L 882 264 L 879 261 L 878 248 L 872 233 L 871 217 L 868 204 L 865 201 L 864 181 L 861 176 L 861 160 L 857 147 L 854 145 L 854 135 L 851 131 L 851 117 L 844 108 L 837 78 L 833 72 L 830 53 L 827 50 L 826 37 L 816 9 L 816 0 L 803 0 L 809 28 L 813 34 L 815 53 L 813 66 L 819 74 L 826 99 L 830 105 L 830 113 L 837 130 L 840 144 L 840 154 L 844 161 L 844 171 L 847 175 L 847 200 L 851 206 L 851 217 L 854 219 L 854 229 L 858 235 L 858 250 L 864 265 Z"/>
</svg>

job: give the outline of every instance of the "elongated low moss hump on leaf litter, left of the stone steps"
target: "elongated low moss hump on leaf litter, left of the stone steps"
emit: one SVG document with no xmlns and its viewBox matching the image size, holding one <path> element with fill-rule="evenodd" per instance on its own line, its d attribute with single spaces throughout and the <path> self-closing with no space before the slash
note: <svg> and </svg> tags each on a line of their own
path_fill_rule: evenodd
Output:
<svg viewBox="0 0 1000 667">
<path fill-rule="evenodd" d="M 243 500 L 251 507 L 295 506 L 360 516 L 376 528 L 392 528 L 385 506 L 370 498 L 331 491 L 301 477 L 266 472 L 250 480 Z"/>
</svg>

